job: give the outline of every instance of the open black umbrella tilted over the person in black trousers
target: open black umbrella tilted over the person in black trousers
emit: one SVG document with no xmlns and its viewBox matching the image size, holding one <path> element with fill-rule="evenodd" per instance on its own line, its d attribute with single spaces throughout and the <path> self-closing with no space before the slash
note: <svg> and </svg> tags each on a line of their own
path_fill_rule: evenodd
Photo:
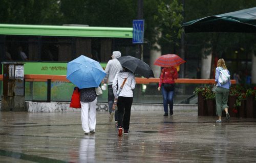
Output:
<svg viewBox="0 0 256 163">
<path fill-rule="evenodd" d="M 134 74 L 144 76 L 146 78 L 155 77 L 152 69 L 148 64 L 132 56 L 123 56 L 117 58 L 120 64 L 132 71 Z"/>
</svg>

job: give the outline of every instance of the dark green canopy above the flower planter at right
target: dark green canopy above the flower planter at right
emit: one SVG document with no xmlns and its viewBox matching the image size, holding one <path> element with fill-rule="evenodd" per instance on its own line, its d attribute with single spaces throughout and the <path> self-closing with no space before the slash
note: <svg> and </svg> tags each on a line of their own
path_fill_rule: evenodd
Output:
<svg viewBox="0 0 256 163">
<path fill-rule="evenodd" d="M 182 27 L 185 33 L 256 33 L 256 7 L 188 21 Z"/>
</svg>

